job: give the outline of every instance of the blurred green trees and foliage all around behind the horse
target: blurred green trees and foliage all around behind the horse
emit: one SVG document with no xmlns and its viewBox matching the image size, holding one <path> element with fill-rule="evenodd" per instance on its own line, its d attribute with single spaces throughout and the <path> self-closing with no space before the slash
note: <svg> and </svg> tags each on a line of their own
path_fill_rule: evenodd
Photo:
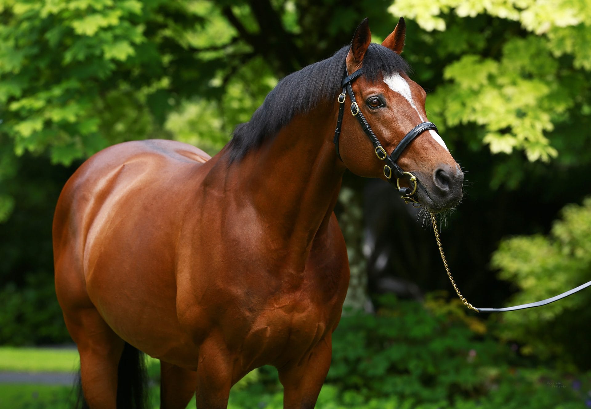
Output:
<svg viewBox="0 0 591 409">
<path fill-rule="evenodd" d="M 401 15 L 408 25 L 403 55 L 429 92 L 429 118 L 472 184 L 444 232 L 465 293 L 502 305 L 591 280 L 585 0 L 2 0 L 0 342 L 69 339 L 53 295 L 50 228 L 60 188 L 84 159 L 146 138 L 173 138 L 213 154 L 285 74 L 329 57 L 363 17 L 381 41 Z M 371 266 L 361 248 L 363 183 L 347 176 L 337 209 L 348 227 L 354 307 L 368 305 L 368 297 L 381 305 L 368 294 Z M 554 218 L 560 220 L 551 225 Z M 430 233 L 411 225 L 415 230 L 408 241 L 421 247 L 410 251 L 428 256 L 415 271 L 389 273 L 427 292 L 449 289 Z M 501 241 L 507 235 L 518 237 Z M 440 308 L 457 310 L 438 300 Z M 507 396 L 543 391 L 558 402 L 540 389 L 544 371 L 583 377 L 580 371 L 591 368 L 587 293 L 491 319 L 456 316 L 463 322 L 457 328 L 438 318 L 433 302 L 403 304 L 387 322 L 379 315 L 344 321 L 339 331 L 348 341 L 335 345 L 332 386 L 324 393 L 353 392 L 326 407 L 372 402 L 375 395 L 368 407 L 446 401 L 471 408 L 491 385 Z M 407 329 L 382 333 L 390 331 L 384 325 Z M 465 373 L 460 362 L 472 350 L 484 364 Z M 511 365 L 523 368 L 521 375 Z M 530 386 L 519 387 L 523 382 Z M 432 396 L 423 399 L 425 391 Z M 577 391 L 568 399 L 581 403 Z M 512 407 L 509 398 L 501 401 L 491 407 Z"/>
</svg>

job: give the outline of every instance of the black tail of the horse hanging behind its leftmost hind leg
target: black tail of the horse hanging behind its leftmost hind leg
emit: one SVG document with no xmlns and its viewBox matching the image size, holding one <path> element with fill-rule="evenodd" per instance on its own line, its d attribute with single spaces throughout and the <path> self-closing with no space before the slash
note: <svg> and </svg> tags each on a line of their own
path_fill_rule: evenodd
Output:
<svg viewBox="0 0 591 409">
<path fill-rule="evenodd" d="M 125 343 L 117 370 L 117 407 L 125 409 L 145 409 L 147 405 L 148 376 L 145 355 Z M 78 377 L 76 409 L 89 409 L 82 393 L 82 382 Z"/>
</svg>

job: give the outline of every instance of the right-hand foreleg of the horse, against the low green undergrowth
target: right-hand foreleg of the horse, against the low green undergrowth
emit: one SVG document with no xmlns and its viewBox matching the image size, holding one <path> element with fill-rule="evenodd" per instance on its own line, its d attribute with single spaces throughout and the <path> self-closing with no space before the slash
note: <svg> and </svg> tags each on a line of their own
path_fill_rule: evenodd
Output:
<svg viewBox="0 0 591 409">
<path fill-rule="evenodd" d="M 313 409 L 329 372 L 332 356 L 330 335 L 314 346 L 303 362 L 279 369 L 284 409 Z"/>
</svg>

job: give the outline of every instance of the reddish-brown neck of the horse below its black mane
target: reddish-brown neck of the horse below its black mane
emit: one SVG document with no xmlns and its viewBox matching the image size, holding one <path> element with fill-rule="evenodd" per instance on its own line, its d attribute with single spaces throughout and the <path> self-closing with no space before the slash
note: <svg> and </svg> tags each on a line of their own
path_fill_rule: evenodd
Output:
<svg viewBox="0 0 591 409">
<path fill-rule="evenodd" d="M 241 175 L 241 193 L 287 262 L 305 263 L 314 237 L 327 227 L 335 208 L 345 166 L 332 143 L 333 116 L 336 121 L 330 106 L 296 116 L 274 139 L 232 165 L 238 168 L 232 172 Z M 298 254 L 303 259 L 291 259 Z"/>
</svg>

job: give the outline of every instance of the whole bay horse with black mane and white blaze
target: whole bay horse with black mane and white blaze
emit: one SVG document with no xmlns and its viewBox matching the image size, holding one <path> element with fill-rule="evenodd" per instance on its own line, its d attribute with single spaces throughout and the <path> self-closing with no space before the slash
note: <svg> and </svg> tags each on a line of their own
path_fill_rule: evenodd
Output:
<svg viewBox="0 0 591 409">
<path fill-rule="evenodd" d="M 160 359 L 163 408 L 194 394 L 199 408 L 226 408 L 232 385 L 262 365 L 277 368 L 285 408 L 314 407 L 349 283 L 333 212 L 343 172 L 388 178 L 353 115 L 339 115 L 339 92 L 363 68 L 350 96 L 392 152 L 427 117 L 404 39 L 400 19 L 371 44 L 363 20 L 350 45 L 282 79 L 213 158 L 171 140 L 125 142 L 74 172 L 57 202 L 54 264 L 87 407 L 139 405 L 122 372 L 138 351 Z M 433 127 L 397 163 L 436 212 L 459 202 L 463 174 Z"/>
</svg>

